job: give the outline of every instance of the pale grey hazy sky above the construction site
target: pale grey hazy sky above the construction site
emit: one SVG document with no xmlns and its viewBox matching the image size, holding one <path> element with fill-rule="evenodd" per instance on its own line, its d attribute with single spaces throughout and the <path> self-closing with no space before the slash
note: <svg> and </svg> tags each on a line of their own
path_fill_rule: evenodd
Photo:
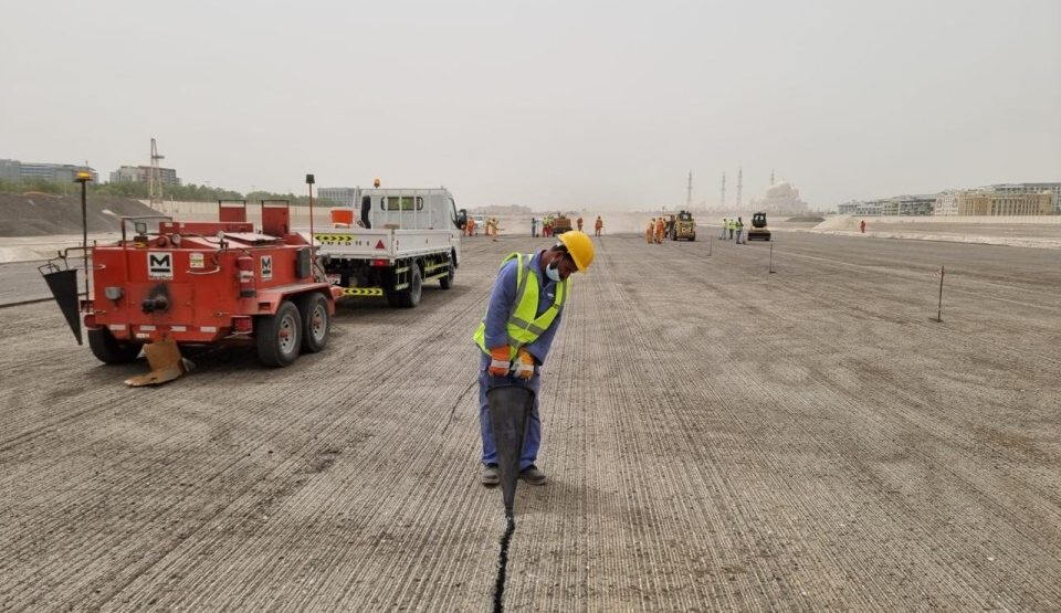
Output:
<svg viewBox="0 0 1061 613">
<path fill-rule="evenodd" d="M 0 158 L 461 205 L 1061 181 L 1061 1 L 6 3 Z"/>
</svg>

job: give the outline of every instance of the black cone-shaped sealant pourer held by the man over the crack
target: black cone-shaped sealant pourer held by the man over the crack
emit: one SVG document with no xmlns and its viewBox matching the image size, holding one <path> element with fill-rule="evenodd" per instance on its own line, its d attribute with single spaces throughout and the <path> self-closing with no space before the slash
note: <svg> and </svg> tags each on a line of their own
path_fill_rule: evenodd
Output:
<svg viewBox="0 0 1061 613">
<path fill-rule="evenodd" d="M 486 390 L 490 405 L 490 425 L 497 447 L 497 469 L 501 492 L 505 500 L 505 516 L 514 517 L 516 482 L 519 478 L 519 457 L 523 437 L 534 409 L 534 392 L 523 385 L 501 384 Z"/>
</svg>

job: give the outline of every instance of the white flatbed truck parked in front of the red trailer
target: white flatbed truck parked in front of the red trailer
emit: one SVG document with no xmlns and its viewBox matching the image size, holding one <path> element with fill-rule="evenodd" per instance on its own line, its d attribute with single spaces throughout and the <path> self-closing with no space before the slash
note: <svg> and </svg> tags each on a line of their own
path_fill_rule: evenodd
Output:
<svg viewBox="0 0 1061 613">
<path fill-rule="evenodd" d="M 391 306 L 414 307 L 424 282 L 452 286 L 468 215 L 447 189 L 358 189 L 354 207 L 329 213 L 313 240 L 344 296 L 386 296 Z"/>
</svg>

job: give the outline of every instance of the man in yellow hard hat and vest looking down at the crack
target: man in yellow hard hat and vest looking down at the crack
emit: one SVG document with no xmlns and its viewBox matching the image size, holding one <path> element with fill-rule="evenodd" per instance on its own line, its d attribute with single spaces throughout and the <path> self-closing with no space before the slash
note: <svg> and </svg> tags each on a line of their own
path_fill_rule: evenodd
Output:
<svg viewBox="0 0 1061 613">
<path fill-rule="evenodd" d="M 490 295 L 486 317 L 475 330 L 480 349 L 479 425 L 483 438 L 483 473 L 487 487 L 501 480 L 497 447 L 490 424 L 486 390 L 492 384 L 521 384 L 534 392 L 534 408 L 527 423 L 519 458 L 519 478 L 545 483 L 545 473 L 535 465 L 542 443 L 538 418 L 539 371 L 560 325 L 564 304 L 570 293 L 568 277 L 585 273 L 593 262 L 593 241 L 571 230 L 557 243 L 535 254 L 510 254 L 501 264 Z"/>
</svg>

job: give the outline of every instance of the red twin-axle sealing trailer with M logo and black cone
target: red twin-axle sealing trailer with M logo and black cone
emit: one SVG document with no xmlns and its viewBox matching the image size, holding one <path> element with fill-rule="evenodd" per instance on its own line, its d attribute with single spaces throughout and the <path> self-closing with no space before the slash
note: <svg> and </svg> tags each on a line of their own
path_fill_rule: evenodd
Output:
<svg viewBox="0 0 1061 613">
<path fill-rule="evenodd" d="M 96 358 L 127 363 L 144 349 L 151 372 L 127 380 L 130 385 L 186 372 L 181 345 L 254 342 L 263 363 L 287 366 L 301 351 L 324 349 L 342 288 L 327 282 L 311 245 L 291 232 L 290 203 L 261 207 L 260 232 L 246 221 L 246 201 L 219 201 L 217 222 L 123 218 L 117 244 L 88 247 L 92 294 L 80 305 L 75 269 L 52 261 L 41 272 L 78 344 L 70 311 L 71 303 L 75 314 L 80 306 Z M 157 230 L 149 231 L 149 222 Z"/>
</svg>

